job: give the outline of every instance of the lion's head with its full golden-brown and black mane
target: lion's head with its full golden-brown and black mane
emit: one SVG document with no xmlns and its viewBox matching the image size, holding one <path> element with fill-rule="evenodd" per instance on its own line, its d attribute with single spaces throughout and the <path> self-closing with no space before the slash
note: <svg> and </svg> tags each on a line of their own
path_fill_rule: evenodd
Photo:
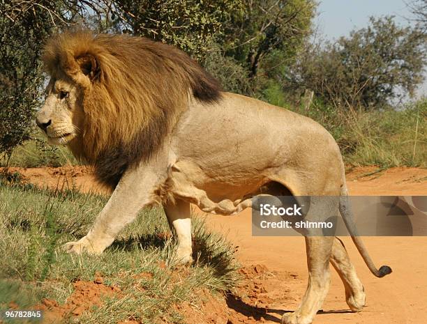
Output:
<svg viewBox="0 0 427 324">
<path fill-rule="evenodd" d="M 179 49 L 147 38 L 73 31 L 47 43 L 51 79 L 37 116 L 52 144 L 67 144 L 113 187 L 158 151 L 188 95 L 219 100 L 213 77 Z"/>
</svg>

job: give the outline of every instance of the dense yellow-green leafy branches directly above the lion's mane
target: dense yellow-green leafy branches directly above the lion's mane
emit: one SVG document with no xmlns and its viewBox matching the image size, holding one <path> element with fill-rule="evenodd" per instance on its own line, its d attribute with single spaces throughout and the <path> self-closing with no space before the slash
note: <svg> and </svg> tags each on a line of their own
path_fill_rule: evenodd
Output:
<svg viewBox="0 0 427 324">
<path fill-rule="evenodd" d="M 114 6 L 123 32 L 161 40 L 201 59 L 223 36 L 231 13 L 241 10 L 241 1 L 117 0 Z"/>
</svg>

